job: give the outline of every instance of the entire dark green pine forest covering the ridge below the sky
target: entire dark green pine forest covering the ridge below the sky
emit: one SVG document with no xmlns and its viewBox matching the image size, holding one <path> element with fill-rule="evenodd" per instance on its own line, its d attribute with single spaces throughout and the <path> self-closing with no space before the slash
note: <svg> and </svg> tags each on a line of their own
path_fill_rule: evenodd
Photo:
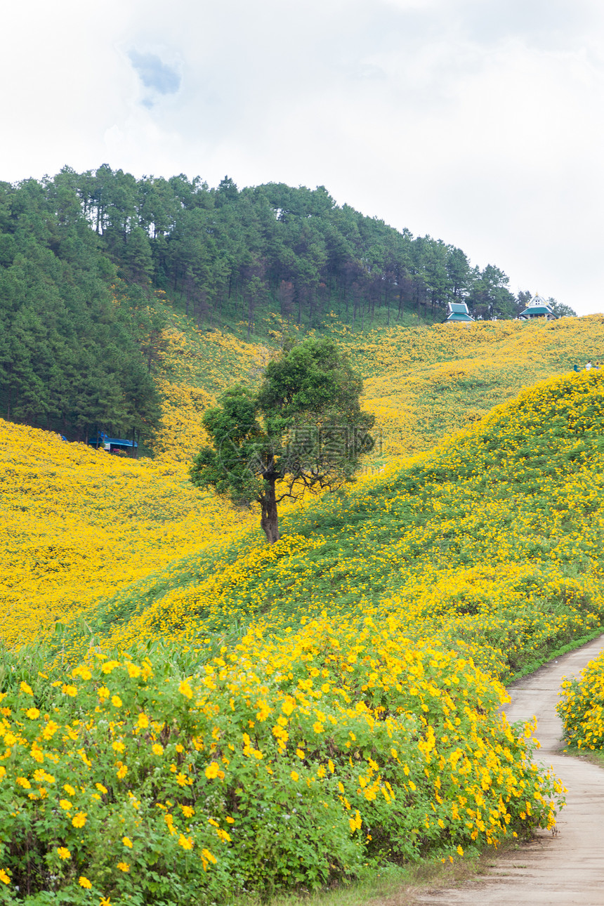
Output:
<svg viewBox="0 0 604 906">
<path fill-rule="evenodd" d="M 103 165 L 0 184 L 0 414 L 88 439 L 158 422 L 157 291 L 198 326 L 250 337 L 262 313 L 354 330 L 404 313 L 514 317 L 499 268 L 338 206 L 323 187 L 137 179 Z M 162 295 L 163 298 L 163 295 Z M 561 306 L 563 308 L 564 306 Z"/>
</svg>

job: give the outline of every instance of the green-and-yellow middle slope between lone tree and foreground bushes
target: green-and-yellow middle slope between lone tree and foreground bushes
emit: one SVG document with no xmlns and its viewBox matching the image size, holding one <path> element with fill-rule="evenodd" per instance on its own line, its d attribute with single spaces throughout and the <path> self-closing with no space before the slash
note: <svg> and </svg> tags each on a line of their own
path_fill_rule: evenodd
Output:
<svg viewBox="0 0 604 906">
<path fill-rule="evenodd" d="M 91 630 L 120 649 L 214 647 L 255 619 L 272 635 L 394 614 L 507 679 L 602 619 L 603 386 L 583 371 L 526 390 L 402 470 L 292 511 L 277 545 L 253 530 L 174 562 L 89 611 Z"/>
</svg>

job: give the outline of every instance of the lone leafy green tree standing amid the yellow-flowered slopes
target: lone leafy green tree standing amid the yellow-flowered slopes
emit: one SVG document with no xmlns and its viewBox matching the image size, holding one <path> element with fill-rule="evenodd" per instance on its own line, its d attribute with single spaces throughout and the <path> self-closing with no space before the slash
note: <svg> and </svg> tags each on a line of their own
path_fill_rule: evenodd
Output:
<svg viewBox="0 0 604 906">
<path fill-rule="evenodd" d="M 286 345 L 269 362 L 258 392 L 240 384 L 204 415 L 213 447 L 190 468 L 197 487 L 262 508 L 269 544 L 279 539 L 278 504 L 304 489 L 333 490 L 374 447 L 374 416 L 360 410 L 362 382 L 332 340 Z"/>
</svg>

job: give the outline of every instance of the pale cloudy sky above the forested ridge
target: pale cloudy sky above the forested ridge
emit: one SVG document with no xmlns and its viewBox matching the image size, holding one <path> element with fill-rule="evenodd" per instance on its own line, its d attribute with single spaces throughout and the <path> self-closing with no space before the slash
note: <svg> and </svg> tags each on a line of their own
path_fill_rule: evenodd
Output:
<svg viewBox="0 0 604 906">
<path fill-rule="evenodd" d="M 0 180 L 322 185 L 604 312 L 599 0 L 20 0 L 0 22 Z"/>
</svg>

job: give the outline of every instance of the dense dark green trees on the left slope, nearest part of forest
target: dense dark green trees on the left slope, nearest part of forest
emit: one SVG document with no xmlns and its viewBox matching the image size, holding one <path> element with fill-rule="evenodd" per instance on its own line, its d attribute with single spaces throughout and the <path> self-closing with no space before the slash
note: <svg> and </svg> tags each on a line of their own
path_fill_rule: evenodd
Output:
<svg viewBox="0 0 604 906">
<path fill-rule="evenodd" d="M 130 298 L 69 174 L 0 187 L 0 411 L 85 439 L 158 420 Z M 133 239 L 133 241 L 135 241 Z"/>
</svg>

